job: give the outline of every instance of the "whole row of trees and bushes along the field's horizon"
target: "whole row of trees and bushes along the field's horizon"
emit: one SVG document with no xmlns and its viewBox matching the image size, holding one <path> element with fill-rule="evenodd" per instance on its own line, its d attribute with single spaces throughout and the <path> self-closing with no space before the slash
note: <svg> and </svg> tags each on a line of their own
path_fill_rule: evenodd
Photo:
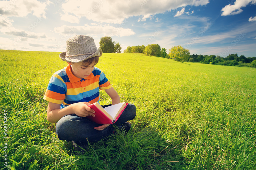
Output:
<svg viewBox="0 0 256 170">
<path fill-rule="evenodd" d="M 100 38 L 100 48 L 103 53 L 121 53 L 122 49 L 121 45 L 112 41 L 112 38 L 109 36 Z M 166 48 L 161 48 L 159 44 L 128 46 L 124 53 L 142 53 L 150 56 L 171 58 L 180 62 L 188 61 L 222 66 L 256 67 L 256 57 L 245 57 L 243 55 L 238 57 L 237 54 L 229 54 L 227 57 L 190 55 L 189 50 L 180 45 L 173 46 L 169 50 L 169 54 L 167 54 Z"/>
</svg>

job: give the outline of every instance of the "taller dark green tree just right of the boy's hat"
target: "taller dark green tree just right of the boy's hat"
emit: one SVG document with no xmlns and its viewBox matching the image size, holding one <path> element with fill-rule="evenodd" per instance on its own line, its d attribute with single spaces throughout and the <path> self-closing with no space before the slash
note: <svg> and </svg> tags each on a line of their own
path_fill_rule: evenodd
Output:
<svg viewBox="0 0 256 170">
<path fill-rule="evenodd" d="M 103 53 L 115 53 L 115 42 L 112 42 L 112 38 L 109 36 L 101 37 L 100 49 Z"/>
</svg>

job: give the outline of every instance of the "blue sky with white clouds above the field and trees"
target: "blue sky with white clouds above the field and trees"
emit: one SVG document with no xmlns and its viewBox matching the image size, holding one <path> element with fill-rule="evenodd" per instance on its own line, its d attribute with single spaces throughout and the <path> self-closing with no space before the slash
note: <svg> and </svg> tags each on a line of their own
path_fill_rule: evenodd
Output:
<svg viewBox="0 0 256 170">
<path fill-rule="evenodd" d="M 0 49 L 66 51 L 68 38 L 110 36 L 127 46 L 159 44 L 190 54 L 256 56 L 256 0 L 0 1 Z"/>
</svg>

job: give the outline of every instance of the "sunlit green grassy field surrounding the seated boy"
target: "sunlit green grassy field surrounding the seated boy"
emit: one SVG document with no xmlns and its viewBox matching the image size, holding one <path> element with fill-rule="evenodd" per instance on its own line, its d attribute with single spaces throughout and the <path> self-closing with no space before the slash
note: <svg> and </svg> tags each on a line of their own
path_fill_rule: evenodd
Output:
<svg viewBox="0 0 256 170">
<path fill-rule="evenodd" d="M 58 55 L 0 50 L 1 169 L 256 167 L 255 68 L 103 54 L 96 67 L 137 116 L 129 134 L 80 155 L 58 139 L 42 99 L 50 76 L 67 65 Z M 100 94 L 100 104 L 111 103 Z"/>
</svg>

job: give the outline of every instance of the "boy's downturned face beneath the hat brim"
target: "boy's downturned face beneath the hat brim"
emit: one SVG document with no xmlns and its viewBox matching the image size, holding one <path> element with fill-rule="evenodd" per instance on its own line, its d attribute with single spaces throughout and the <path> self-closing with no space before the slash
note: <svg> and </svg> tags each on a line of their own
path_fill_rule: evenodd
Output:
<svg viewBox="0 0 256 170">
<path fill-rule="evenodd" d="M 90 65 L 82 64 L 82 62 L 79 63 L 71 63 L 67 62 L 71 66 L 72 73 L 78 77 L 79 79 L 83 79 L 88 77 L 93 69 L 94 69 L 94 62 L 91 63 Z"/>
</svg>

